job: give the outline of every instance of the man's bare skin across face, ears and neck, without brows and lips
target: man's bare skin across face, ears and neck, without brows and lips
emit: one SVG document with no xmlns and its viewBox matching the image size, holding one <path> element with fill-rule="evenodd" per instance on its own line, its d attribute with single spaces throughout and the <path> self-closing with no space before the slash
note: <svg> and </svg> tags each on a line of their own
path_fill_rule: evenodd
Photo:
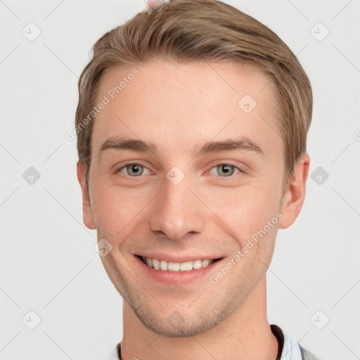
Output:
<svg viewBox="0 0 360 360">
<path fill-rule="evenodd" d="M 107 70 L 98 101 L 133 68 Z M 285 186 L 274 94 L 257 70 L 164 61 L 136 68 L 139 75 L 94 120 L 89 191 L 84 165 L 77 167 L 84 224 L 113 247 L 101 260 L 124 299 L 122 358 L 276 359 L 278 343 L 266 316 L 266 269 L 278 229 L 293 224 L 304 203 L 309 155 L 300 158 Z M 245 94 L 257 101 L 249 114 L 238 106 Z M 149 141 L 158 153 L 101 151 L 112 136 Z M 257 143 L 263 155 L 241 149 L 191 153 L 195 144 L 235 136 Z M 132 168 L 124 167 L 129 162 L 140 162 L 143 174 L 131 176 Z M 228 176 L 217 167 L 224 162 L 234 166 L 226 168 Z M 166 177 L 174 166 L 185 175 L 177 185 Z M 144 275 L 134 256 L 221 257 L 214 275 L 278 213 L 278 224 L 216 285 L 209 276 L 159 283 Z M 176 326 L 167 321 L 174 311 L 181 319 Z"/>
</svg>

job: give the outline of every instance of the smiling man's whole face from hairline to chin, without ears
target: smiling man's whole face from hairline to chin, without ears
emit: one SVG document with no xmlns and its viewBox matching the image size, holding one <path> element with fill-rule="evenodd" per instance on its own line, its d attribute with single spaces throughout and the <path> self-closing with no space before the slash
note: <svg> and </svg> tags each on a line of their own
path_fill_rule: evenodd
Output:
<svg viewBox="0 0 360 360">
<path fill-rule="evenodd" d="M 101 259 L 115 288 L 162 335 L 202 333 L 238 309 L 264 278 L 278 231 L 285 169 L 269 79 L 210 65 L 138 65 L 139 75 L 114 99 L 108 91 L 134 67 L 111 68 L 96 102 L 110 99 L 94 120 L 84 222 L 113 247 Z M 124 139 L 153 151 L 117 143 Z M 237 148 L 241 139 L 247 142 Z M 200 151 L 221 141 L 228 143 Z M 165 271 L 140 257 L 217 261 Z M 229 271 L 217 276 L 224 266 Z"/>
</svg>

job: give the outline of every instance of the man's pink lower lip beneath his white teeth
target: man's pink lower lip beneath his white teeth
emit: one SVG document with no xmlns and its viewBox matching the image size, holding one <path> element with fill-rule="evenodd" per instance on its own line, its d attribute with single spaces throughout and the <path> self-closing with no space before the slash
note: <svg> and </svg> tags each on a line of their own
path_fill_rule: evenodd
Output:
<svg viewBox="0 0 360 360">
<path fill-rule="evenodd" d="M 160 269 L 156 270 L 144 264 L 139 257 L 135 257 L 135 259 L 147 276 L 153 278 L 153 280 L 158 281 L 159 283 L 165 283 L 167 285 L 183 285 L 200 280 L 205 276 L 210 277 L 210 274 L 214 271 L 214 266 L 219 264 L 222 260 L 220 259 L 217 262 L 212 262 L 212 264 L 202 267 L 201 269 L 193 269 L 189 271 L 169 271 Z"/>
</svg>

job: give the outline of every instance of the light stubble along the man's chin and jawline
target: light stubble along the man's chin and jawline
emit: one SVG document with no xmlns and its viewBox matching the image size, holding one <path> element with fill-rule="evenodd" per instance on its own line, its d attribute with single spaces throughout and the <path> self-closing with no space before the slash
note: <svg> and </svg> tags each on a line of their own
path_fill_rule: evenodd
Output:
<svg viewBox="0 0 360 360">
<path fill-rule="evenodd" d="M 221 289 L 221 294 L 209 297 L 206 295 L 207 291 L 205 290 L 203 295 L 201 295 L 201 300 L 193 302 L 187 308 L 184 307 L 184 309 L 165 307 L 161 304 L 161 298 L 157 301 L 155 297 L 149 294 L 148 291 L 150 289 L 146 291 L 136 281 L 133 283 L 133 279 L 129 278 L 129 275 L 122 274 L 122 272 L 127 272 L 124 269 L 115 269 L 114 274 L 117 274 L 117 276 L 116 278 L 112 276 L 112 281 L 114 282 L 115 280 L 117 283 L 114 284 L 115 288 L 122 295 L 128 307 L 134 311 L 139 321 L 143 323 L 143 326 L 154 333 L 166 337 L 190 337 L 205 333 L 216 327 L 243 304 L 252 288 L 265 274 L 267 266 L 271 261 L 271 255 L 272 253 L 269 248 L 257 252 L 257 259 L 255 257 L 254 262 L 248 264 L 250 268 L 258 266 L 257 274 L 252 274 L 253 276 L 251 277 L 248 273 L 251 270 L 249 268 L 243 269 L 244 271 L 240 274 L 238 281 L 233 283 L 232 286 Z M 114 266 L 116 261 L 112 259 L 110 263 Z M 215 288 L 213 288 L 214 285 L 209 286 L 210 290 L 216 290 L 217 285 L 215 285 Z M 181 321 L 176 326 L 168 321 L 169 316 L 173 312 L 177 312 L 178 316 L 181 316 Z"/>
</svg>

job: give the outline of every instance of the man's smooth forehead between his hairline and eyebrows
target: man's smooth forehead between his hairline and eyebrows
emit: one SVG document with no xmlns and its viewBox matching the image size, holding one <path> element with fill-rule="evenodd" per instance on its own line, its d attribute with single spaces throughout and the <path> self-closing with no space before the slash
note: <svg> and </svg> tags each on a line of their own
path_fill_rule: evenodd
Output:
<svg viewBox="0 0 360 360">
<path fill-rule="evenodd" d="M 247 136 L 264 148 L 281 146 L 269 78 L 229 63 L 151 62 L 105 71 L 97 101 L 94 153 L 103 141 L 130 136 L 168 150 L 229 136 Z M 266 150 L 266 149 L 265 149 Z"/>
</svg>

